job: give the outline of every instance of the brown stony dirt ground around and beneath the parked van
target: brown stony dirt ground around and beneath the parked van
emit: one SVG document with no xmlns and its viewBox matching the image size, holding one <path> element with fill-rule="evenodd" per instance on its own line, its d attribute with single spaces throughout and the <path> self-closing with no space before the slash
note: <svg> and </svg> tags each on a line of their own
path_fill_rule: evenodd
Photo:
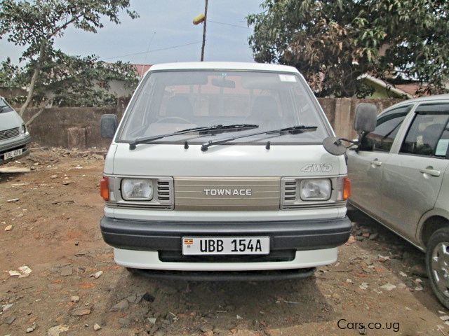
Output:
<svg viewBox="0 0 449 336">
<path fill-rule="evenodd" d="M 157 281 L 102 241 L 100 152 L 34 148 L 8 165 L 32 170 L 0 174 L 0 336 L 449 335 L 423 254 L 358 211 L 339 261 L 309 279 Z"/>
</svg>

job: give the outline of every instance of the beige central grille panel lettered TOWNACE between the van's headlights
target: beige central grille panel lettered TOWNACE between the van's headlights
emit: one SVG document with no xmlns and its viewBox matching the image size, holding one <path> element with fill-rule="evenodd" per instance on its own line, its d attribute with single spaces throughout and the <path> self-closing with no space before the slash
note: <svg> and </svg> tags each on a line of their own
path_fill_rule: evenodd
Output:
<svg viewBox="0 0 449 336">
<path fill-rule="evenodd" d="M 175 177 L 175 209 L 279 210 L 280 178 Z"/>
</svg>

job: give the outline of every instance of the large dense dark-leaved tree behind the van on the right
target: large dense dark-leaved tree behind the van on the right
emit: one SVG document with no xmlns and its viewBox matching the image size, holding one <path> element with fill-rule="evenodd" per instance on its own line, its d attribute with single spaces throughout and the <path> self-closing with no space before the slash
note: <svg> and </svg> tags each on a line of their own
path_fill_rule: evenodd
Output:
<svg viewBox="0 0 449 336">
<path fill-rule="evenodd" d="M 319 96 L 352 97 L 363 73 L 445 91 L 449 1 L 265 0 L 261 7 L 247 17 L 255 60 L 297 67 Z"/>
</svg>

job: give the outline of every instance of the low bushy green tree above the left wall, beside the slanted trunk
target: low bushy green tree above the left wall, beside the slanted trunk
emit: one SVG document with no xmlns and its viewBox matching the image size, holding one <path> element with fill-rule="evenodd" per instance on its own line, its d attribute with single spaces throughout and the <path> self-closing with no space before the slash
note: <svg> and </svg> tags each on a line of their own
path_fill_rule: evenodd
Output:
<svg viewBox="0 0 449 336">
<path fill-rule="evenodd" d="M 36 67 L 35 62 L 18 69 L 13 83 L 18 86 L 29 83 Z M 40 116 L 50 102 L 53 106 L 115 105 L 117 97 L 108 90 L 112 80 L 119 80 L 129 88 L 134 88 L 138 83 L 137 73 L 129 63 L 106 63 L 95 55 L 69 56 L 55 50 L 53 56 L 43 64 L 34 84 L 32 102 L 39 109 L 27 120 L 27 125 Z"/>
</svg>

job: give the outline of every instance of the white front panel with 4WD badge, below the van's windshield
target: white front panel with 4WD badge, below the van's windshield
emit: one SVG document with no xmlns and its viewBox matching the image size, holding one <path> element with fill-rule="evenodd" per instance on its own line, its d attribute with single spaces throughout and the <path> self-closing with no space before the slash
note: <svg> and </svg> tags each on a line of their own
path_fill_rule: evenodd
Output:
<svg viewBox="0 0 449 336">
<path fill-rule="evenodd" d="M 344 156 L 322 145 L 219 145 L 202 152 L 201 145 L 128 144 L 109 148 L 105 174 L 126 176 L 336 176 L 347 174 Z M 114 153 L 115 152 L 115 153 Z M 112 162 L 111 162 L 112 160 Z M 112 163 L 112 164 L 111 164 Z"/>
</svg>

